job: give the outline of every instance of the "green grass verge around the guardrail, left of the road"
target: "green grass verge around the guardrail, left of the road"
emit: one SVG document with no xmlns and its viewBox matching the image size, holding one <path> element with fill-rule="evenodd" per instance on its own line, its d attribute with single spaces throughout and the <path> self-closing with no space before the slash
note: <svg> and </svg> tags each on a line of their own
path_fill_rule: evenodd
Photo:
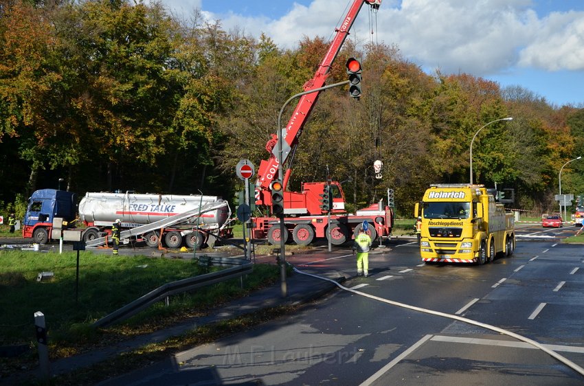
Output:
<svg viewBox="0 0 584 386">
<path fill-rule="evenodd" d="M 0 342 L 29 345 L 33 350 L 16 359 L 0 359 L 5 377 L 36 363 L 34 312 L 42 311 L 49 332 L 51 360 L 92 350 L 96 346 L 153 332 L 190 317 L 205 315 L 230 299 L 273 284 L 278 266 L 256 264 L 240 280 L 214 284 L 170 299 L 170 306 L 154 304 L 142 313 L 108 329 L 95 329 L 93 321 L 165 284 L 207 273 L 192 259 L 117 257 L 80 253 L 76 302 L 76 253 L 0 251 Z M 210 268 L 217 270 L 218 268 Z M 54 279 L 38 282 L 39 272 L 52 271 Z"/>
</svg>

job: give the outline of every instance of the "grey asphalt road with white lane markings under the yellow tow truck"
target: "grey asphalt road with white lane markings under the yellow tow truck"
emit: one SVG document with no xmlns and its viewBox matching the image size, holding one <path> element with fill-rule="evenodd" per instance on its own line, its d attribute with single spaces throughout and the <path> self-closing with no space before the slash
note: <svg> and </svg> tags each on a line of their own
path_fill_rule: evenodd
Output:
<svg viewBox="0 0 584 386">
<path fill-rule="evenodd" d="M 422 264 L 416 245 L 392 243 L 350 291 L 103 384 L 581 385 L 570 361 L 584 367 L 584 254 L 558 242 L 574 231 L 525 227 L 513 258 L 484 266 Z M 316 274 L 356 271 L 344 250 L 288 260 Z"/>
</svg>

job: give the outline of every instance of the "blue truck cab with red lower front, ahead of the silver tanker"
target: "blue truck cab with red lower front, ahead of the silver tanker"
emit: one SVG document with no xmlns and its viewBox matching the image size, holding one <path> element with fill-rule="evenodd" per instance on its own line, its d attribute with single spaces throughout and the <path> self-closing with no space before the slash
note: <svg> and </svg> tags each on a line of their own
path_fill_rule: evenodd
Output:
<svg viewBox="0 0 584 386">
<path fill-rule="evenodd" d="M 65 190 L 36 190 L 28 199 L 22 236 L 38 244 L 51 238 L 54 218 L 63 218 L 63 227 L 74 222 L 77 214 L 77 194 Z"/>
</svg>

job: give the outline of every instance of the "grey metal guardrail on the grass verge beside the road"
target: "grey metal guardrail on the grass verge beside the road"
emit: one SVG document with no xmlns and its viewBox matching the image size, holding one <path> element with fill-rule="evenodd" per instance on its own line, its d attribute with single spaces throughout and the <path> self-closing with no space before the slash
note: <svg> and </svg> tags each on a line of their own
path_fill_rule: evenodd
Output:
<svg viewBox="0 0 584 386">
<path fill-rule="evenodd" d="M 194 277 L 189 277 L 188 279 L 179 280 L 177 282 L 167 283 L 163 286 L 159 286 L 153 291 L 150 291 L 146 295 L 135 299 L 133 302 L 126 304 L 122 308 L 115 310 L 113 313 L 102 317 L 95 323 L 93 327 L 107 327 L 114 323 L 123 321 L 136 315 L 140 311 L 148 308 L 151 304 L 159 302 L 161 299 L 165 299 L 170 295 L 177 295 L 178 293 L 183 293 L 187 291 L 192 291 L 195 288 L 201 288 L 203 286 L 209 286 L 210 284 L 215 284 L 218 282 L 225 282 L 226 280 L 234 279 L 236 277 L 241 277 L 251 273 L 254 269 L 253 264 L 249 260 L 240 258 L 199 258 L 201 264 L 237 264 L 232 268 L 223 269 L 218 272 L 205 273 L 204 275 L 198 275 Z"/>
</svg>

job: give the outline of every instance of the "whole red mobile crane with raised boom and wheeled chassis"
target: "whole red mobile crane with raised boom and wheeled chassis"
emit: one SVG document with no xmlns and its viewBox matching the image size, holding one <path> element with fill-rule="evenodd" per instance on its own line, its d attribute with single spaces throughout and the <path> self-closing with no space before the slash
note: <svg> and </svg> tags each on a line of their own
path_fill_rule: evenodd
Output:
<svg viewBox="0 0 584 386">
<path fill-rule="evenodd" d="M 377 236 L 389 236 L 393 225 L 393 212 L 383 203 L 371 205 L 357 211 L 357 214 L 345 213 L 345 196 L 341 184 L 336 181 L 303 183 L 302 192 L 287 192 L 286 186 L 291 173 L 291 161 L 298 145 L 298 138 L 302 134 L 302 128 L 313 109 L 322 87 L 328 78 L 330 68 L 339 54 L 341 46 L 349 34 L 357 14 L 364 3 L 368 3 L 374 10 L 379 8 L 381 0 L 354 0 L 348 10 L 341 27 L 336 30 L 335 38 L 328 48 L 322 63 L 319 65 L 315 76 L 304 83 L 304 93 L 293 111 L 285 128 L 281 129 L 282 135 L 282 164 L 288 161 L 288 166 L 282 176 L 284 186 L 284 223 L 287 232 L 280 233 L 280 227 L 276 225 L 279 220 L 273 217 L 256 217 L 254 221 L 254 237 L 268 238 L 269 242 L 276 245 L 281 237 L 288 240 L 291 232 L 293 240 L 299 245 L 308 245 L 315 238 L 329 238 L 334 245 L 341 245 L 350 240 L 359 232 L 363 221 L 368 223 L 368 233 L 372 240 Z M 262 160 L 258 169 L 256 181 L 256 205 L 271 205 L 271 183 L 278 177 L 278 136 L 273 134 L 266 144 L 266 150 L 271 153 L 268 160 Z M 289 155 L 292 155 L 289 159 Z M 282 165 L 283 166 L 283 165 Z M 327 213 L 319 205 L 319 198 L 325 190 L 330 188 L 330 229 L 328 229 Z"/>
</svg>

